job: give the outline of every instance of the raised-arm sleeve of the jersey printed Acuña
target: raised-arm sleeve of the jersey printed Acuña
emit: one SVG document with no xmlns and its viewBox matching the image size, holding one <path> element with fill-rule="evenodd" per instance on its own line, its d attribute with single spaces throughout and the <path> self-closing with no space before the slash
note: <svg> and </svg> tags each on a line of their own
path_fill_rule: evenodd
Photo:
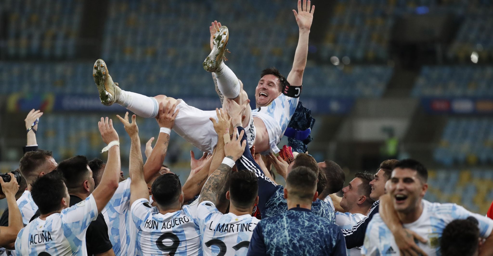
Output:
<svg viewBox="0 0 493 256">
<path fill-rule="evenodd" d="M 74 233 L 80 233 L 89 227 L 92 221 L 98 217 L 98 206 L 91 194 L 85 200 L 64 209 L 61 212 L 62 221 L 70 226 Z"/>
</svg>

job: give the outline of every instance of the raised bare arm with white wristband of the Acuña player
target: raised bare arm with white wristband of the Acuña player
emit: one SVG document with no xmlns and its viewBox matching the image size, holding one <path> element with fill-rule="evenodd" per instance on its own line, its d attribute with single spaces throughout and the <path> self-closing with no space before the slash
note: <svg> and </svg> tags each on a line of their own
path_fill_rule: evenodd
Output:
<svg viewBox="0 0 493 256">
<path fill-rule="evenodd" d="M 113 128 L 113 121 L 111 119 L 108 120 L 108 117 L 106 119 L 101 117 L 101 121 L 98 122 L 98 128 L 101 137 L 103 137 L 103 142 L 110 146 L 108 150 L 108 161 L 106 161 L 101 182 L 92 193 L 98 206 L 98 212 L 101 212 L 118 188 L 121 166 L 120 142 L 118 134 Z"/>
</svg>

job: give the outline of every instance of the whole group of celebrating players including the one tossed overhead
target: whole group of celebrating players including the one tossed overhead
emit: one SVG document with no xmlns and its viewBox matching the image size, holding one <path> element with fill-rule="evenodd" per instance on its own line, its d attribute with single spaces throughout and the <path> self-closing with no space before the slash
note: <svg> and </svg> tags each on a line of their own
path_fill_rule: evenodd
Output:
<svg viewBox="0 0 493 256">
<path fill-rule="evenodd" d="M 38 149 L 43 113 L 31 111 L 20 182 L 12 173 L 9 182 L 0 179 L 8 202 L 0 219 L 1 255 L 493 255 L 493 220 L 424 200 L 428 174 L 416 160 L 386 160 L 374 173 L 348 177 L 343 188 L 345 175 L 335 162 L 279 150 L 302 94 L 314 11 L 310 0 L 298 0 L 292 70 L 287 77 L 275 68 L 259 70 L 253 110 L 224 63 L 229 30 L 216 21 L 203 64 L 221 99 L 215 111 L 170 95 L 125 91 L 98 59 L 93 77 L 101 102 L 135 113 L 98 122 L 106 162 L 79 155 L 57 163 Z M 159 126 L 154 148 L 152 141 L 145 146 L 145 163 L 136 115 L 155 118 L 156 134 Z M 115 125 L 128 134 L 117 134 Z M 163 166 L 171 130 L 204 152 L 198 160 L 192 154 L 184 184 Z M 120 144 L 121 136 L 131 142 L 128 178 L 120 171 L 120 147 L 129 146 Z"/>
</svg>

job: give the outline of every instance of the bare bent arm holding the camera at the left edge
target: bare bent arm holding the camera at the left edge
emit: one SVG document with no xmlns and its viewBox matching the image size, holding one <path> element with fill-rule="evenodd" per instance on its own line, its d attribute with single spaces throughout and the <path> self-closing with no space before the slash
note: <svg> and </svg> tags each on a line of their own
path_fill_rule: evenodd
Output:
<svg viewBox="0 0 493 256">
<path fill-rule="evenodd" d="M 4 182 L 0 178 L 1 188 L 7 199 L 8 206 L 8 227 L 0 227 L 0 246 L 2 247 L 7 247 L 9 244 L 15 242 L 17 234 L 24 228 L 22 215 L 15 201 L 15 193 L 19 189 L 19 185 L 14 174 L 8 173 L 8 175 L 10 175 L 10 182 Z"/>
</svg>

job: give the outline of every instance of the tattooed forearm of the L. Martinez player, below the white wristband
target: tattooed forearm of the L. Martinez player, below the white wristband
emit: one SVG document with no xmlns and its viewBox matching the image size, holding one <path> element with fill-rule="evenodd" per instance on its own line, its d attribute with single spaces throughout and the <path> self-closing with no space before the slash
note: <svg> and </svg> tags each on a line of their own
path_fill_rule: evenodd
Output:
<svg viewBox="0 0 493 256">
<path fill-rule="evenodd" d="M 217 197 L 221 188 L 224 187 L 226 183 L 226 176 L 232 168 L 226 164 L 220 164 L 217 170 L 212 172 L 211 176 L 207 179 L 206 184 L 202 187 L 202 192 L 200 193 L 199 202 L 211 201 L 217 204 Z"/>
</svg>

